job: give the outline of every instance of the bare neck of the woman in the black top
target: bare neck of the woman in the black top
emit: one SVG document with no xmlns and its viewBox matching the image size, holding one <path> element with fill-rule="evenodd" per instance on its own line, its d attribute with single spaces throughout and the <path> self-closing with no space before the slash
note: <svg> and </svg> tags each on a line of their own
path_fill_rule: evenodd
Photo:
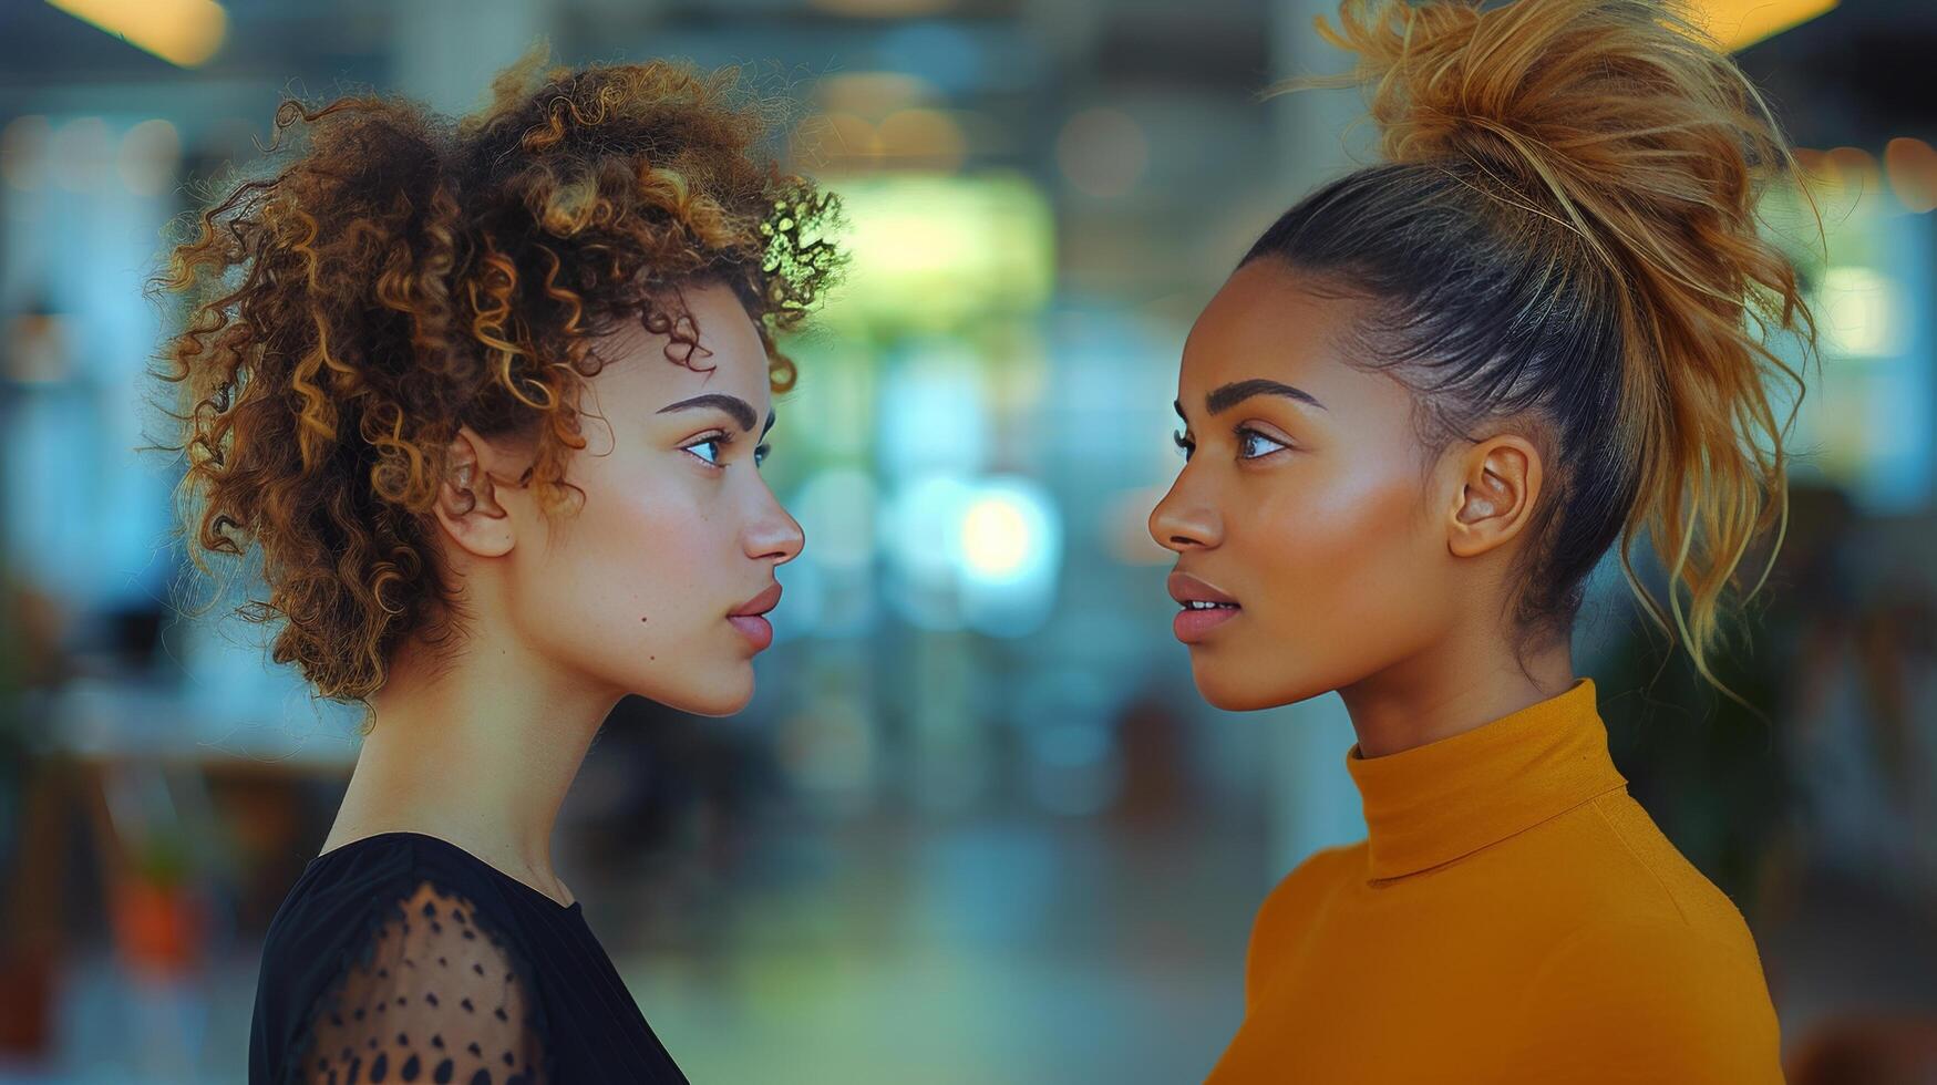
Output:
<svg viewBox="0 0 1937 1085">
<path fill-rule="evenodd" d="M 323 851 L 384 831 L 442 837 L 560 903 L 552 825 L 618 694 L 562 674 L 500 622 L 451 659 L 395 653 Z"/>
</svg>

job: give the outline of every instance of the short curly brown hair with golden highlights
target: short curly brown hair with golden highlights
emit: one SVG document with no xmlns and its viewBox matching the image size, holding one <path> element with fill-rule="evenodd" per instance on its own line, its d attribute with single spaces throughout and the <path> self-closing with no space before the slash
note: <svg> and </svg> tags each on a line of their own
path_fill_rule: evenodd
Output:
<svg viewBox="0 0 1937 1085">
<path fill-rule="evenodd" d="M 585 448 L 579 403 L 597 341 L 626 322 L 697 366 L 680 289 L 730 287 L 775 335 L 831 283 L 839 205 L 763 157 L 775 103 L 734 70 L 610 64 L 540 72 L 449 120 L 389 97 L 275 114 L 267 176 L 227 188 L 155 287 L 186 326 L 155 376 L 190 552 L 256 546 L 277 663 L 368 705 L 391 651 L 457 626 L 430 510 L 459 426 L 529 438 L 519 479 L 546 515 Z"/>
</svg>

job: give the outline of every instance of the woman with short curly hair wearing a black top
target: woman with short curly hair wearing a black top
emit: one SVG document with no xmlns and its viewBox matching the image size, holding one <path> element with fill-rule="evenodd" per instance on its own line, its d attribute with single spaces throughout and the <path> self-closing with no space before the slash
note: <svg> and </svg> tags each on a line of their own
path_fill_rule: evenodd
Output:
<svg viewBox="0 0 1937 1085">
<path fill-rule="evenodd" d="M 362 705 L 269 926 L 250 1081 L 684 1081 L 552 872 L 626 694 L 738 711 L 798 523 L 757 467 L 833 200 L 670 64 L 500 76 L 457 124 L 285 103 L 178 246 L 188 523 L 273 657 Z"/>
</svg>

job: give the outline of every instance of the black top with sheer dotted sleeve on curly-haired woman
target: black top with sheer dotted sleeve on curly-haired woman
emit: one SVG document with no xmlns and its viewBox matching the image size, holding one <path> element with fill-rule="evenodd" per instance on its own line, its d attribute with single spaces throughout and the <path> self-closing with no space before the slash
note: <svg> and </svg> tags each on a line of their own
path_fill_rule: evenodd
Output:
<svg viewBox="0 0 1937 1085">
<path fill-rule="evenodd" d="M 269 922 L 250 1085 L 686 1085 L 569 907 L 461 847 L 378 833 Z"/>
</svg>

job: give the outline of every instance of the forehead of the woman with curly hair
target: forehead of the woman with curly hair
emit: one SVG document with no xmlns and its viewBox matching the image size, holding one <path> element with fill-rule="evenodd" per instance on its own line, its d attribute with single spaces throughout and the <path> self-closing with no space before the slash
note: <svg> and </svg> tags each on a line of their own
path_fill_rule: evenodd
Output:
<svg viewBox="0 0 1937 1085">
<path fill-rule="evenodd" d="M 705 285 L 686 287 L 674 300 L 680 304 L 690 322 L 678 320 L 680 308 L 668 312 L 684 329 L 682 337 L 697 335 L 692 362 L 682 364 L 686 343 L 672 343 L 668 353 L 666 335 L 628 322 L 600 345 L 606 362 L 597 378 L 600 399 L 637 399 L 637 407 L 657 409 L 701 391 L 723 391 L 765 413 L 771 395 L 767 349 L 740 298 L 728 287 Z"/>
</svg>

